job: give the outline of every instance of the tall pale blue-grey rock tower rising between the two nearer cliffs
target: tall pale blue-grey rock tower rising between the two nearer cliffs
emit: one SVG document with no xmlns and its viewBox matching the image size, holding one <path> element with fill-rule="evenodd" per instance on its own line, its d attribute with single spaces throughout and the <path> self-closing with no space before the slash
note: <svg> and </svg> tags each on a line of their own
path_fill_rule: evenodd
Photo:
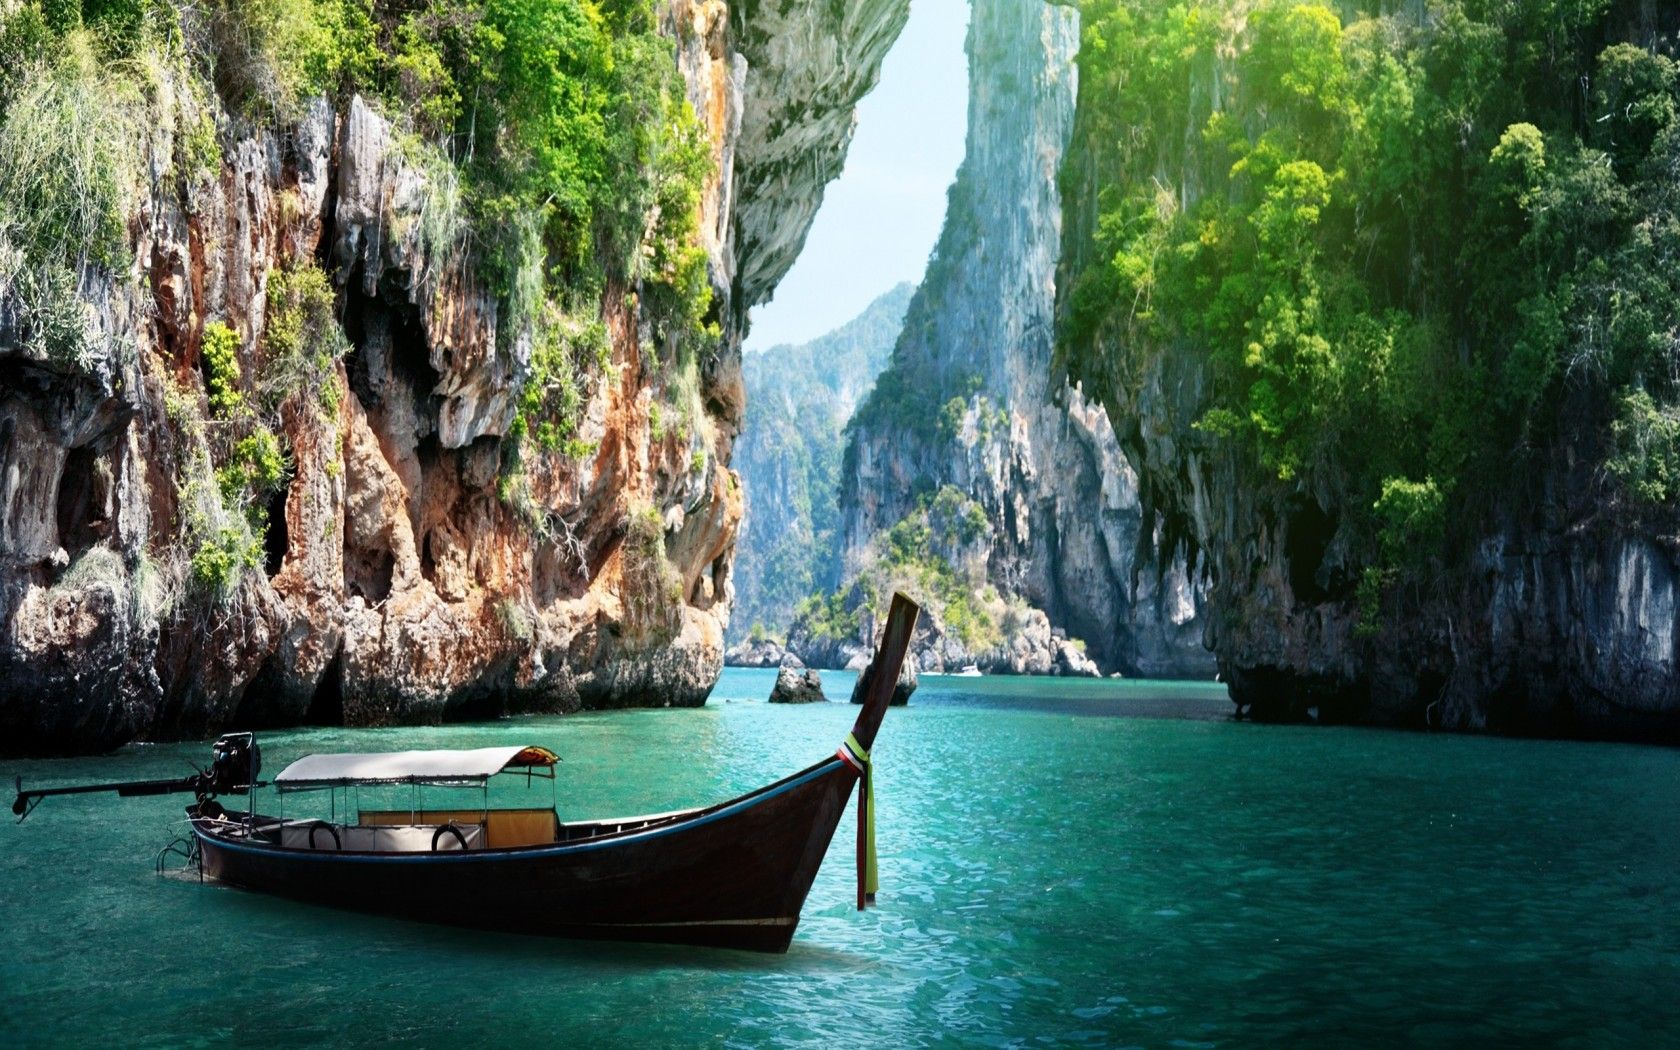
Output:
<svg viewBox="0 0 1680 1050">
<path fill-rule="evenodd" d="M 1050 378 L 1057 168 L 1074 119 L 1077 47 L 1070 8 L 973 7 L 968 153 L 892 366 L 852 423 L 845 554 L 858 571 L 874 558 L 874 538 L 953 486 L 990 522 L 968 554 L 978 573 L 1040 612 L 1006 613 L 1020 622 L 1021 652 L 924 638 L 924 669 L 979 660 L 1050 670 L 1053 625 L 1105 669 L 1211 674 L 1193 573 L 1183 561 L 1158 571 L 1137 558 L 1156 521 L 1104 408 Z M 1025 642 L 1040 635 L 1043 645 Z"/>
</svg>

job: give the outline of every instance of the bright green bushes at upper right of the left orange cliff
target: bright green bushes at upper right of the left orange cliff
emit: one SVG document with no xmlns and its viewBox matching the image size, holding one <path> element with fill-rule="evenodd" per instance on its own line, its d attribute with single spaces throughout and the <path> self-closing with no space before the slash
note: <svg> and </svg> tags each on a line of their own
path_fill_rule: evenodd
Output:
<svg viewBox="0 0 1680 1050">
<path fill-rule="evenodd" d="M 474 101 L 455 131 L 484 227 L 538 232 L 499 245 L 504 287 L 531 267 L 570 286 L 643 279 L 684 319 L 704 314 L 687 249 L 709 160 L 650 2 L 486 0 L 454 79 Z"/>
</svg>

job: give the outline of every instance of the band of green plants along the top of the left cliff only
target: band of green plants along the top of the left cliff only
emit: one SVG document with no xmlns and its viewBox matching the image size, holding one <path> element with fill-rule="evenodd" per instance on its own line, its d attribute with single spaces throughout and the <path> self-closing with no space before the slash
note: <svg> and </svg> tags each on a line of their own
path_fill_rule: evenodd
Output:
<svg viewBox="0 0 1680 1050">
<path fill-rule="evenodd" d="M 506 299 L 516 338 L 546 299 L 593 302 L 606 284 L 638 292 L 657 338 L 689 351 L 716 339 L 699 247 L 711 143 L 687 102 L 652 0 L 34 0 L 0 25 L 0 106 L 15 222 L 57 223 L 20 250 L 66 247 L 114 265 L 123 208 L 114 165 L 136 143 L 113 106 L 136 97 L 129 67 L 188 55 L 247 121 L 297 119 L 311 99 L 375 99 L 400 131 L 455 168 L 474 260 Z M 55 66 L 42 55 L 66 55 Z M 114 119 L 116 118 L 116 119 Z M 213 160 L 213 126 L 183 131 L 183 155 Z M 64 150 L 81 155 L 59 163 Z M 116 148 L 121 144 L 123 148 Z M 0 141 L 0 150 L 7 143 Z M 428 170 L 428 175 L 437 175 Z M 37 180 L 39 181 L 39 180 Z M 42 195 L 47 195 L 45 198 Z M 7 186 L 0 186 L 0 203 Z M 57 202 L 57 207 L 54 207 Z M 79 210 L 66 213 L 74 203 Z M 454 213 L 455 208 L 450 208 Z M 40 247 L 30 247 L 40 240 Z M 30 262 L 37 262 L 34 257 Z M 34 267 L 40 269 L 40 267 Z M 50 274 L 49 274 L 50 277 Z"/>
</svg>

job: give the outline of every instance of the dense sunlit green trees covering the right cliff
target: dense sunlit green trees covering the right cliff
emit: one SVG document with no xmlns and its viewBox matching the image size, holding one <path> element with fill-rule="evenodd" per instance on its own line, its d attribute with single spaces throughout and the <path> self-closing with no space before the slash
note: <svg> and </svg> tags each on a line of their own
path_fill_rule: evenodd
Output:
<svg viewBox="0 0 1680 1050">
<path fill-rule="evenodd" d="M 1075 376 L 1198 354 L 1196 430 L 1337 492 L 1379 570 L 1566 430 L 1631 502 L 1673 492 L 1680 77 L 1614 42 L 1631 5 L 1082 8 Z"/>
</svg>

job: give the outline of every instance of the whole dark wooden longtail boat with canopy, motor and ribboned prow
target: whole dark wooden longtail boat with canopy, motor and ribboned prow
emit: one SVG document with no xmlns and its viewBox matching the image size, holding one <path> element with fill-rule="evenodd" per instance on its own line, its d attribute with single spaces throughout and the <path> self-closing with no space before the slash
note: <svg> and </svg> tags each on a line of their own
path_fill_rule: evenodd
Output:
<svg viewBox="0 0 1680 1050">
<path fill-rule="evenodd" d="M 852 788 L 858 796 L 858 907 L 874 895 L 869 749 L 899 679 L 917 608 L 897 595 L 865 702 L 840 749 L 711 806 L 561 822 L 546 810 L 360 811 L 351 823 L 227 810 L 260 773 L 250 734 L 217 741 L 208 771 L 176 781 L 25 791 L 193 791 L 186 808 L 205 879 L 368 912 L 479 929 L 786 951 Z M 544 748 L 314 754 L 274 778 L 281 791 L 346 785 L 482 785 L 501 771 L 553 776 Z"/>
</svg>

